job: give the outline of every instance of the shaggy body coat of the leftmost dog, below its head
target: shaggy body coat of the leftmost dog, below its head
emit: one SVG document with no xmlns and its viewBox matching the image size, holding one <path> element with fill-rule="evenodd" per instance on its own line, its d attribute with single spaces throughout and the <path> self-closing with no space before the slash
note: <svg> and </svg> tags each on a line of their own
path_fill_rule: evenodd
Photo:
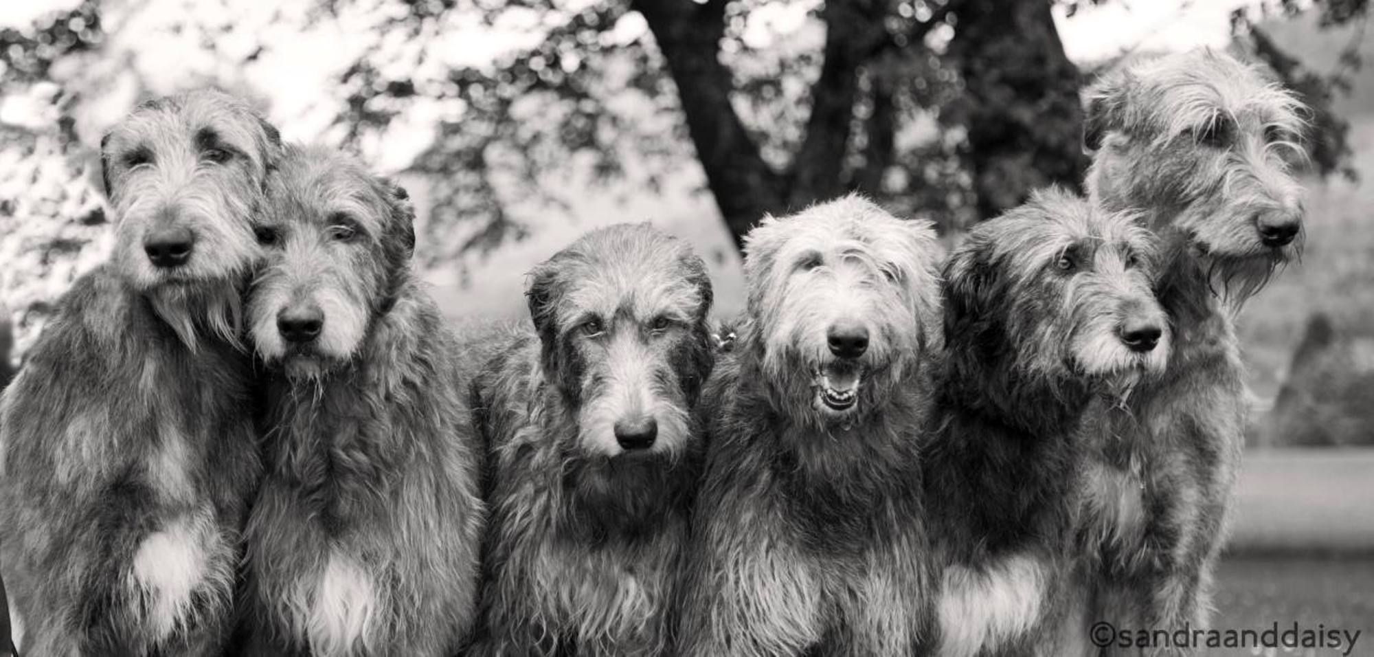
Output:
<svg viewBox="0 0 1374 657">
<path fill-rule="evenodd" d="M 202 337 L 192 353 L 107 268 L 63 296 L 0 408 L 0 562 L 26 654 L 217 649 L 258 477 L 249 381 L 243 352 Z M 184 590 L 144 591 L 140 569 Z"/>
</svg>

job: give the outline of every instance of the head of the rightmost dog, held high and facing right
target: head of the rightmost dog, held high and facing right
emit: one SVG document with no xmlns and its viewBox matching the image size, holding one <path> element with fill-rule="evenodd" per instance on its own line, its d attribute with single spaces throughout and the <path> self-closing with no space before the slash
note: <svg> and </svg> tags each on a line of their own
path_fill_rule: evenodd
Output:
<svg viewBox="0 0 1374 657">
<path fill-rule="evenodd" d="M 1084 98 L 1094 198 L 1154 214 L 1157 234 L 1208 258 L 1241 297 L 1300 250 L 1303 188 L 1289 168 L 1305 109 L 1257 67 L 1183 52 L 1107 74 Z"/>
</svg>

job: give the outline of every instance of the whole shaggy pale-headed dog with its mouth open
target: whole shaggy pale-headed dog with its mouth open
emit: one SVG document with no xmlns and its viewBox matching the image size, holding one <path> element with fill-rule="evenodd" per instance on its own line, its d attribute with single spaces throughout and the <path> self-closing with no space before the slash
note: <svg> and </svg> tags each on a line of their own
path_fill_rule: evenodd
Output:
<svg viewBox="0 0 1374 657">
<path fill-rule="evenodd" d="M 934 232 L 845 197 L 767 217 L 745 253 L 746 316 L 702 403 L 682 653 L 908 654 L 932 586 Z"/>
</svg>

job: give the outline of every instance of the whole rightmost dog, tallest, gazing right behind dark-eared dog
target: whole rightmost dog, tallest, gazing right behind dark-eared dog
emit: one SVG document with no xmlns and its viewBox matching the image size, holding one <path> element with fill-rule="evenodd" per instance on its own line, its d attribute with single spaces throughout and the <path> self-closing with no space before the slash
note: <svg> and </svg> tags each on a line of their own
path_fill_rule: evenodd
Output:
<svg viewBox="0 0 1374 657">
<path fill-rule="evenodd" d="M 1297 100 L 1210 51 L 1134 63 L 1085 96 L 1087 186 L 1143 213 L 1173 330 L 1162 378 L 1094 414 L 1085 488 L 1085 623 L 1205 625 L 1246 422 L 1231 315 L 1298 249 L 1301 190 L 1285 151 Z"/>
</svg>

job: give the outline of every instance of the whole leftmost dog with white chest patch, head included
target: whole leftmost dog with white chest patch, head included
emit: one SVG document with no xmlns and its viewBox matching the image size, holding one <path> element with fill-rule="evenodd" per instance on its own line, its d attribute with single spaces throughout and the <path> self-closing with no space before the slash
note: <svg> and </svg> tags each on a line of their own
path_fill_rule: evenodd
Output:
<svg viewBox="0 0 1374 657">
<path fill-rule="evenodd" d="M 217 654 L 257 485 L 239 298 L 279 157 L 194 92 L 102 142 L 111 261 L 78 279 L 0 404 L 0 564 L 25 654 Z"/>
</svg>

